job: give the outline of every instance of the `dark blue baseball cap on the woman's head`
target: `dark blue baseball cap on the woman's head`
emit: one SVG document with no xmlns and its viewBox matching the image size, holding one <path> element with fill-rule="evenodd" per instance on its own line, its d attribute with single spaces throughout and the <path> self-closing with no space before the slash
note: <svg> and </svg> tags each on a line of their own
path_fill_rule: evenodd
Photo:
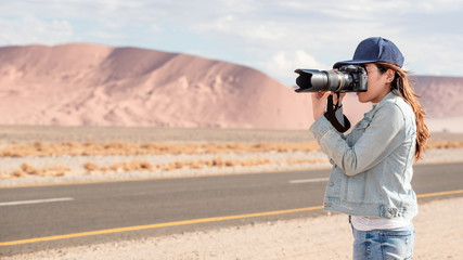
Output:
<svg viewBox="0 0 463 260">
<path fill-rule="evenodd" d="M 371 37 L 362 40 L 353 53 L 350 61 L 337 62 L 333 68 L 338 68 L 349 64 L 364 64 L 374 62 L 391 63 L 399 67 L 403 65 L 403 55 L 399 48 L 388 39 L 382 37 Z"/>
</svg>

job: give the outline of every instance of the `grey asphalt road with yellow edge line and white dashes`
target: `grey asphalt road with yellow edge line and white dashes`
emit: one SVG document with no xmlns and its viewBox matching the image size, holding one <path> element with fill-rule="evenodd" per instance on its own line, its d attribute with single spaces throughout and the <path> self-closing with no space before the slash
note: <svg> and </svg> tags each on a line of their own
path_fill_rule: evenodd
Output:
<svg viewBox="0 0 463 260">
<path fill-rule="evenodd" d="M 413 187 L 419 195 L 462 191 L 462 169 L 416 166 Z M 322 214 L 327 177 L 311 170 L 0 188 L 0 256 Z M 463 194 L 430 198 L 448 196 Z"/>
</svg>

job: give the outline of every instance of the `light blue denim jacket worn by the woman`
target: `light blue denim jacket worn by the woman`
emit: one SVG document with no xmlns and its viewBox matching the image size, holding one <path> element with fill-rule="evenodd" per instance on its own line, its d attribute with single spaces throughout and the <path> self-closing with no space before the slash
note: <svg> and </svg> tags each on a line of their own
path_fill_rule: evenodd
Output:
<svg viewBox="0 0 463 260">
<path fill-rule="evenodd" d="M 416 216 L 416 195 L 410 184 L 416 123 L 402 98 L 387 94 L 347 135 L 323 116 L 310 131 L 333 164 L 325 210 L 380 218 Z"/>
</svg>

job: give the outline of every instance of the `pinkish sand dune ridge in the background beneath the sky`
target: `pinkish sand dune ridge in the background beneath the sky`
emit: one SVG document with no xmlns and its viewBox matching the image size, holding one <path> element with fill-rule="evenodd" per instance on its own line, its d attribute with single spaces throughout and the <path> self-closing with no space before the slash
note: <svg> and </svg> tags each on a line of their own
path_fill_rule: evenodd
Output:
<svg viewBox="0 0 463 260">
<path fill-rule="evenodd" d="M 292 73 L 292 72 L 288 72 Z M 455 109 L 463 78 L 414 76 L 430 117 Z M 0 125 L 306 129 L 310 98 L 241 65 L 138 48 L 0 48 Z M 351 121 L 370 106 L 347 98 Z"/>
</svg>

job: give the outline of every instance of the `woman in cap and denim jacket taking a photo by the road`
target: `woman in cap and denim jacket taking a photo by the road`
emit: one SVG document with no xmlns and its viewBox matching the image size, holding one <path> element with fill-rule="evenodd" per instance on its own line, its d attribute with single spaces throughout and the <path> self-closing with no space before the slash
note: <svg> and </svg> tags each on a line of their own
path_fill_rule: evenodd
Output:
<svg viewBox="0 0 463 260">
<path fill-rule="evenodd" d="M 324 208 L 350 216 L 353 259 L 413 255 L 412 218 L 417 204 L 410 184 L 412 165 L 422 157 L 429 133 L 401 68 L 403 60 L 391 41 L 372 37 L 359 43 L 352 60 L 333 66 L 361 65 L 368 74 L 368 91 L 357 95 L 362 103 L 373 103 L 373 108 L 347 135 L 323 116 L 332 93 L 312 94 L 316 121 L 310 130 L 333 164 Z M 336 113 L 343 118 L 342 108 Z"/>
</svg>

